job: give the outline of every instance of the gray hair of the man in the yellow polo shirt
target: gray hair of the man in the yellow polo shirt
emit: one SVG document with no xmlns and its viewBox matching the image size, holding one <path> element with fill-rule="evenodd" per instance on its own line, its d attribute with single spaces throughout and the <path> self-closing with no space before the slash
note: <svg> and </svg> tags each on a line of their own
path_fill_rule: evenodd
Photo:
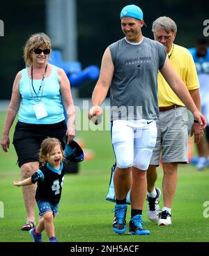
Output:
<svg viewBox="0 0 209 256">
<path fill-rule="evenodd" d="M 153 33 L 155 33 L 156 29 L 159 29 L 159 28 L 163 29 L 167 33 L 177 32 L 176 23 L 173 20 L 171 20 L 170 17 L 166 17 L 166 16 L 159 17 L 157 18 L 157 20 L 153 22 L 153 28 L 152 28 Z"/>
</svg>

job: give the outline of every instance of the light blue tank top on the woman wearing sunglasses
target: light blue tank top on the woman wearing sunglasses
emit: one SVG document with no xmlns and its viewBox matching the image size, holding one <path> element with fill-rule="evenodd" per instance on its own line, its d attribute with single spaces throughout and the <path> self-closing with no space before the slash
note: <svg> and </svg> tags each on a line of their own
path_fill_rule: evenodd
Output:
<svg viewBox="0 0 209 256">
<path fill-rule="evenodd" d="M 33 80 L 33 87 L 36 92 L 38 92 L 41 81 L 42 80 Z M 65 119 L 63 105 L 61 103 L 58 68 L 56 66 L 52 66 L 51 74 L 49 77 L 45 77 L 42 86 L 43 87 L 39 93 L 39 98 L 41 98 L 41 95 L 42 98 L 40 102 L 37 102 L 34 100 L 36 94 L 31 85 L 28 68 L 22 70 L 22 77 L 20 80 L 20 95 L 22 96 L 22 101 L 20 103 L 18 121 L 34 124 L 52 124 L 59 123 Z M 44 103 L 47 112 L 47 116 L 42 119 L 37 119 L 33 110 L 33 106 L 38 103 Z"/>
</svg>

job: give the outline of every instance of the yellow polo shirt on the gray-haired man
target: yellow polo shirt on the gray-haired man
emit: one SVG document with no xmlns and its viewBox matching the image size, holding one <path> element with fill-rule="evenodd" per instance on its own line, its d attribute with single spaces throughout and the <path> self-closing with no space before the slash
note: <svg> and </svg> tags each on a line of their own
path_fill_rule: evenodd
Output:
<svg viewBox="0 0 209 256">
<path fill-rule="evenodd" d="M 173 49 L 173 52 L 172 52 Z M 178 76 L 185 82 L 189 91 L 199 89 L 199 80 L 196 74 L 195 64 L 192 54 L 182 46 L 174 45 L 168 56 L 171 54 L 169 61 L 171 66 Z M 158 103 L 159 107 L 167 107 L 173 104 L 185 106 L 184 103 L 176 96 L 176 93 L 171 89 L 169 84 L 164 80 L 164 77 L 159 72 L 157 76 L 158 83 Z"/>
</svg>

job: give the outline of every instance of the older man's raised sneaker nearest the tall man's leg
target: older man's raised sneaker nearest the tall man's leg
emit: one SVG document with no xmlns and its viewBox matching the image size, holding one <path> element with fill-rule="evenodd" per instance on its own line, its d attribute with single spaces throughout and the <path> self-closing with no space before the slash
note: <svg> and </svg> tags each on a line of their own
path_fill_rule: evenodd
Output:
<svg viewBox="0 0 209 256">
<path fill-rule="evenodd" d="M 155 188 L 157 195 L 156 197 L 148 197 L 146 198 L 146 200 L 148 201 L 148 210 L 147 210 L 147 216 L 148 219 L 151 221 L 157 221 L 159 219 L 159 213 L 160 213 L 160 206 L 159 206 L 159 202 L 160 202 L 160 188 Z"/>
</svg>

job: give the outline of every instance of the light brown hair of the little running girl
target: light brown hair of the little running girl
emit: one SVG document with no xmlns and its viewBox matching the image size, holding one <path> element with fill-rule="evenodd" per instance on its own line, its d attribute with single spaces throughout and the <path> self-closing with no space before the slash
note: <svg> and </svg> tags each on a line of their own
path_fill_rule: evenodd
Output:
<svg viewBox="0 0 209 256">
<path fill-rule="evenodd" d="M 62 154 L 63 149 L 62 149 L 62 145 L 61 142 L 56 139 L 56 138 L 52 138 L 52 137 L 47 137 L 45 140 L 42 141 L 41 145 L 40 145 L 40 151 L 39 151 L 39 161 L 40 163 L 45 163 L 45 159 L 44 156 L 48 156 L 48 154 L 50 154 L 52 152 L 52 150 L 54 149 L 54 146 L 59 145 Z"/>
</svg>

